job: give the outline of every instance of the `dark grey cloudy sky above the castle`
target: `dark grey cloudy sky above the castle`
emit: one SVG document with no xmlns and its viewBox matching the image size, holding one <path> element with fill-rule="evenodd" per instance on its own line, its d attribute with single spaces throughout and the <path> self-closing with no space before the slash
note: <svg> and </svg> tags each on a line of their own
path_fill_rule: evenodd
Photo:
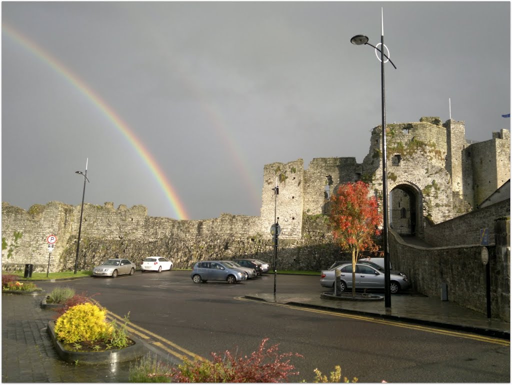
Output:
<svg viewBox="0 0 512 385">
<path fill-rule="evenodd" d="M 381 7 L 388 123 L 510 129 L 509 2 L 3 2 L 2 201 L 78 205 L 89 159 L 86 203 L 258 216 L 265 164 L 368 153 Z"/>
</svg>

